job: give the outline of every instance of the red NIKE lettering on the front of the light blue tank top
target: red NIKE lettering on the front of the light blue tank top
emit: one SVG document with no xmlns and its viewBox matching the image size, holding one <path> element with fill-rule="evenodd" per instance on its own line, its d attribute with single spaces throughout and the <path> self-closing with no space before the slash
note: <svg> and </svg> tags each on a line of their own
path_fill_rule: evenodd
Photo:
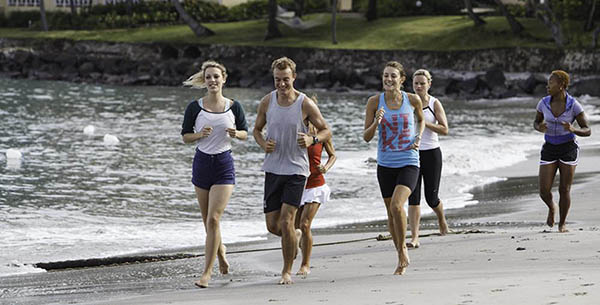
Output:
<svg viewBox="0 0 600 305">
<path fill-rule="evenodd" d="M 406 113 L 391 114 L 389 121 L 385 116 L 383 117 L 381 120 L 382 151 L 406 150 L 407 144 L 410 144 L 408 116 L 409 114 Z M 400 128 L 400 124 L 402 124 L 402 128 Z"/>
</svg>

